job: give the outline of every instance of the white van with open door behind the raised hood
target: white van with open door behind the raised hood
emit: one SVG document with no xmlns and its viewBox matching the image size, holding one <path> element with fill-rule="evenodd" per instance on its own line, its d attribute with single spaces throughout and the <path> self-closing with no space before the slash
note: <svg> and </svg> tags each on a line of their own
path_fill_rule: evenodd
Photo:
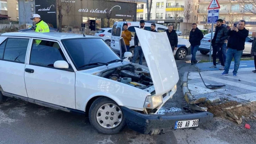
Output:
<svg viewBox="0 0 256 144">
<path fill-rule="evenodd" d="M 119 39 L 121 38 L 121 33 L 123 31 L 123 24 L 127 23 L 128 24 L 128 30 L 132 32 L 132 40 L 130 41 L 130 49 L 129 52 L 132 52 L 134 55 L 134 35 L 135 35 L 135 29 L 134 27 L 140 27 L 140 22 L 139 21 L 119 21 L 115 22 L 112 28 L 112 33 L 111 33 L 111 44 L 110 47 L 117 53 L 119 54 L 120 52 L 120 44 L 119 44 Z M 150 30 L 152 23 L 145 23 L 145 27 Z M 164 25 L 159 25 L 156 24 L 156 30 L 158 32 L 164 32 L 168 28 Z M 175 58 L 177 60 L 184 60 L 187 55 L 191 55 L 190 52 L 190 43 L 187 39 L 179 38 L 178 37 L 178 46 L 177 50 L 173 51 L 173 55 L 175 55 Z M 132 58 L 132 57 L 130 57 Z"/>
</svg>

